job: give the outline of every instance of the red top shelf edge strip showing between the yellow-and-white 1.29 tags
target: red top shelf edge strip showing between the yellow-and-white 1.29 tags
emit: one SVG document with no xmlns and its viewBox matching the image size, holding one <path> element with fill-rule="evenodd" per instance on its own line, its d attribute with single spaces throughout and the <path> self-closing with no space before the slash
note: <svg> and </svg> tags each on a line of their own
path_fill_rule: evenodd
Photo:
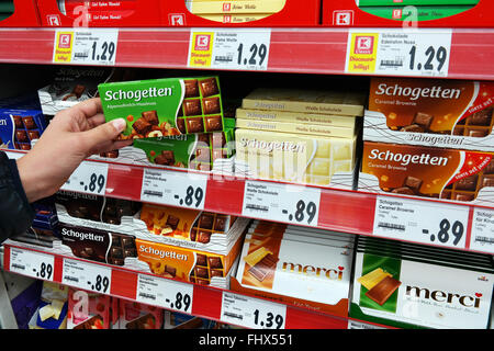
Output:
<svg viewBox="0 0 494 351">
<path fill-rule="evenodd" d="M 267 71 L 346 73 L 347 46 L 351 30 L 330 27 L 266 30 L 270 31 Z M 91 29 L 91 31 L 97 30 Z M 191 32 L 194 29 L 117 29 L 115 31 L 119 31 L 115 66 L 189 68 L 189 46 Z M 375 31 L 381 30 L 375 29 Z M 434 30 L 420 29 L 419 31 L 426 33 Z M 447 77 L 493 80 L 494 66 L 491 57 L 494 55 L 494 30 L 453 29 L 451 31 L 450 65 Z M 0 63 L 53 64 L 55 33 L 55 29 L 0 29 Z M 442 45 L 441 43 L 431 44 Z M 214 69 L 214 67 L 211 68 Z M 358 73 L 364 75 L 364 72 Z"/>
</svg>

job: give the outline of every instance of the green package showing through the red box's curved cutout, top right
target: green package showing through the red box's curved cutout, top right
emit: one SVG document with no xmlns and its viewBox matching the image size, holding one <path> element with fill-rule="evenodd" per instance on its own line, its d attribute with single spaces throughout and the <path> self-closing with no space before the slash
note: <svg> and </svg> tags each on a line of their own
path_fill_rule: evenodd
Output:
<svg viewBox="0 0 494 351">
<path fill-rule="evenodd" d="M 472 5 L 451 7 L 360 7 L 360 10 L 396 21 L 431 21 L 468 11 Z"/>
</svg>

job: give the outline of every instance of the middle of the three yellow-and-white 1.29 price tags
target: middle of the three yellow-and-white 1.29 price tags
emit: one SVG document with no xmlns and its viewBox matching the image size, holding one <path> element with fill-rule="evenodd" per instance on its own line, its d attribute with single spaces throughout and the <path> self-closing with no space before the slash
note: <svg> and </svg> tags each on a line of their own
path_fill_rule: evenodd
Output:
<svg viewBox="0 0 494 351">
<path fill-rule="evenodd" d="M 195 29 L 189 67 L 267 70 L 270 43 L 270 29 Z"/>
</svg>

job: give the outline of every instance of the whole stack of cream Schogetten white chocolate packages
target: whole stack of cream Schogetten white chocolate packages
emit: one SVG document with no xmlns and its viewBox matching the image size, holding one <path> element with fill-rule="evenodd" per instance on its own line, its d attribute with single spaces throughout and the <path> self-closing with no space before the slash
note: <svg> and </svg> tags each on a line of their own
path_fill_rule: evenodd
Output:
<svg viewBox="0 0 494 351">
<path fill-rule="evenodd" d="M 236 112 L 235 171 L 322 186 L 345 174 L 352 188 L 366 99 L 352 91 L 254 90 Z"/>
</svg>

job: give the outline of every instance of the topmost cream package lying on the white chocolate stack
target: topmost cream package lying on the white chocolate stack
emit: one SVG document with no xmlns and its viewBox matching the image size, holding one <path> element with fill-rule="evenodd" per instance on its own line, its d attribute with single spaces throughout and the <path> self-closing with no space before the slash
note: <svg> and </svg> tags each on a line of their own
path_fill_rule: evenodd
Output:
<svg viewBox="0 0 494 351">
<path fill-rule="evenodd" d="M 244 98 L 242 107 L 362 116 L 366 101 L 360 92 L 259 88 Z"/>
</svg>

